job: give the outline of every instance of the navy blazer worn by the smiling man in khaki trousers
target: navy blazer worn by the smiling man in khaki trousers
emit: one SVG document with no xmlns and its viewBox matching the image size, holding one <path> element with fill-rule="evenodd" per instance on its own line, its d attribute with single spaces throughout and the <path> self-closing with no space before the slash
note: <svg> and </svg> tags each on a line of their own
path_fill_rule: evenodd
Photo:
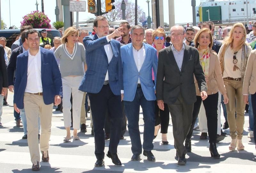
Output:
<svg viewBox="0 0 256 173">
<path fill-rule="evenodd" d="M 41 49 L 41 79 L 43 86 L 44 104 L 52 104 L 55 95 L 62 97 L 62 81 L 60 69 L 51 50 Z M 27 86 L 28 51 L 17 56 L 16 79 L 14 84 L 14 98 L 19 109 L 24 108 L 24 92 Z M 35 79 L 36 80 L 36 79 Z"/>
</svg>

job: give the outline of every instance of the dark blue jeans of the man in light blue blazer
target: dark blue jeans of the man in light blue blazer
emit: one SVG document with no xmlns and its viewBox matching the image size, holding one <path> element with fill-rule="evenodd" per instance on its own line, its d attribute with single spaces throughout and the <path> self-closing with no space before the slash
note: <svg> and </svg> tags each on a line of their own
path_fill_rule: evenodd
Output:
<svg viewBox="0 0 256 173">
<path fill-rule="evenodd" d="M 126 117 L 128 119 L 128 132 L 132 142 L 132 153 L 141 154 L 141 141 L 139 130 L 140 106 L 143 112 L 144 132 L 143 149 L 151 151 L 154 148 L 153 139 L 155 131 L 155 104 L 144 97 L 141 87 L 137 88 L 132 102 L 124 101 Z"/>
</svg>

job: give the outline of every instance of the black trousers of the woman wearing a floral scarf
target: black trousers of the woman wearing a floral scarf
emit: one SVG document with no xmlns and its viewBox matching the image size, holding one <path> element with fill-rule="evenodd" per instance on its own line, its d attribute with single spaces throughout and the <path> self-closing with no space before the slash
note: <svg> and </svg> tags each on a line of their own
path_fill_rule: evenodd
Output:
<svg viewBox="0 0 256 173">
<path fill-rule="evenodd" d="M 207 118 L 207 127 L 209 142 L 216 142 L 217 138 L 217 127 L 218 127 L 218 97 L 219 93 L 208 95 L 208 97 L 203 101 L 205 114 Z M 193 128 L 198 117 L 202 99 L 200 96 L 196 96 L 196 102 L 194 103 L 194 110 L 192 114 L 192 124 L 190 130 L 186 137 L 186 142 L 191 140 Z"/>
</svg>

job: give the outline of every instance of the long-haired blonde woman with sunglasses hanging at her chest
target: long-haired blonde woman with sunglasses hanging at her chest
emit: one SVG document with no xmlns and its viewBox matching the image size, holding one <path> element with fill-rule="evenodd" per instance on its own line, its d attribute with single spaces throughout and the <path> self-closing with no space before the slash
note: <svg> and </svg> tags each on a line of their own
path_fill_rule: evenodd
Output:
<svg viewBox="0 0 256 173">
<path fill-rule="evenodd" d="M 229 36 L 224 39 L 219 51 L 220 67 L 229 98 L 227 119 L 231 136 L 229 150 L 244 150 L 242 143 L 244 130 L 244 109 L 242 86 L 248 56 L 252 50 L 245 43 L 246 30 L 242 23 L 236 23 Z M 236 112 L 236 116 L 235 116 Z"/>
</svg>

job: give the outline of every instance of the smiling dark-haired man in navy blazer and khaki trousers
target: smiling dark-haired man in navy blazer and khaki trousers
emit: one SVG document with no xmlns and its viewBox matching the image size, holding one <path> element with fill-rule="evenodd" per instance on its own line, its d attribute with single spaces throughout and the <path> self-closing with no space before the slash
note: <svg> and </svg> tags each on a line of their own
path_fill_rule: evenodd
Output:
<svg viewBox="0 0 256 173">
<path fill-rule="evenodd" d="M 41 120 L 40 150 L 42 161 L 49 162 L 49 140 L 52 123 L 52 103 L 60 104 L 62 82 L 52 51 L 40 48 L 40 35 L 31 29 L 26 33 L 29 49 L 17 56 L 13 106 L 16 112 L 25 108 L 28 148 L 32 170 L 39 170 L 38 118 Z"/>
</svg>

